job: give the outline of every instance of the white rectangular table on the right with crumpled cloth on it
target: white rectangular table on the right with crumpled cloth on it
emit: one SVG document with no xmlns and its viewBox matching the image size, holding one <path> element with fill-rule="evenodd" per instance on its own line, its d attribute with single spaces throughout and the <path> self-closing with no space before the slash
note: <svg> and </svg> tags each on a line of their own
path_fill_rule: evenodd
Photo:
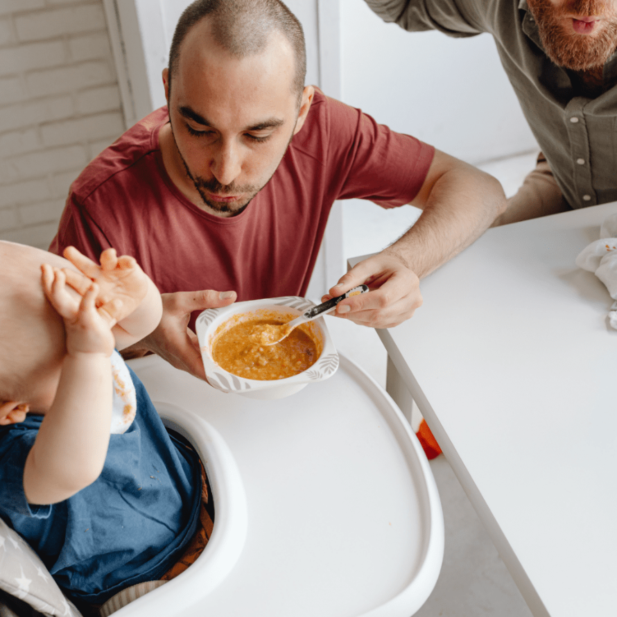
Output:
<svg viewBox="0 0 617 617">
<path fill-rule="evenodd" d="M 489 229 L 378 330 L 388 390 L 415 399 L 537 617 L 617 615 L 617 331 L 575 265 L 616 211 Z"/>
</svg>

